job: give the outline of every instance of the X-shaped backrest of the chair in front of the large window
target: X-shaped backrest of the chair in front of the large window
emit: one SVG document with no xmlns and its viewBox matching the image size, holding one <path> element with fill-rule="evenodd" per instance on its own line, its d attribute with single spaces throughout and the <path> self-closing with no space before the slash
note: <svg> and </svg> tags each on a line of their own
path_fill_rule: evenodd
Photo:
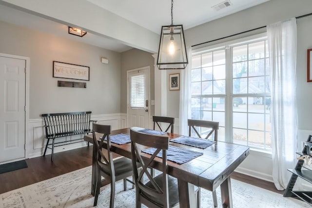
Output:
<svg viewBox="0 0 312 208">
<path fill-rule="evenodd" d="M 198 132 L 196 127 L 204 127 L 211 129 L 209 130 L 207 136 L 204 139 L 208 139 L 214 133 L 214 140 L 218 141 L 219 122 L 188 119 L 188 126 L 189 126 L 189 136 L 192 135 L 193 129 L 196 135 L 199 138 L 202 138 L 201 134 Z"/>
</svg>

